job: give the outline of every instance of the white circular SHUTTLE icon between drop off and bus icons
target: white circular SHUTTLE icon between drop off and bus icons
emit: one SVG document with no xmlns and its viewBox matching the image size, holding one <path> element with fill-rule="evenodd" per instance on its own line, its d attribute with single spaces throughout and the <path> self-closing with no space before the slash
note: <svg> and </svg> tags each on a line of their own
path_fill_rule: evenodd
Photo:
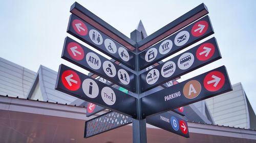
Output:
<svg viewBox="0 0 256 143">
<path fill-rule="evenodd" d="M 169 61 L 169 62 L 166 62 L 162 66 L 161 74 L 162 74 L 163 77 L 170 77 L 174 74 L 175 70 L 176 70 L 175 63 L 172 62 L 172 61 Z"/>
</svg>

